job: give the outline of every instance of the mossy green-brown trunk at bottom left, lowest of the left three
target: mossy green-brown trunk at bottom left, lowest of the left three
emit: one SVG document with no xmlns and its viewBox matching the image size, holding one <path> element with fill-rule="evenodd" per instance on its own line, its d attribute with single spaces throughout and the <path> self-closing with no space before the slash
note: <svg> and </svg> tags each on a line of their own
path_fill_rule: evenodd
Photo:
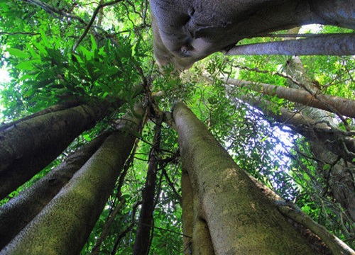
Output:
<svg viewBox="0 0 355 255">
<path fill-rule="evenodd" d="M 143 109 L 138 114 L 143 115 Z M 1 255 L 80 253 L 136 140 L 133 134 L 141 118 L 125 118 L 120 124 L 124 132 L 110 135 Z"/>
</svg>

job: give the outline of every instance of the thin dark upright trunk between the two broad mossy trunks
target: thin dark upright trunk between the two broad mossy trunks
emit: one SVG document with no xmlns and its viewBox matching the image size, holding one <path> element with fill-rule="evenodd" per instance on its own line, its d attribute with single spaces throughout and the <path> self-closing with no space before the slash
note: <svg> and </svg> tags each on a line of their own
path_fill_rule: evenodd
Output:
<svg viewBox="0 0 355 255">
<path fill-rule="evenodd" d="M 153 138 L 153 147 L 149 153 L 146 184 L 144 185 L 142 191 L 143 203 L 141 213 L 139 215 L 136 239 L 133 246 L 133 254 L 135 255 L 146 255 L 149 253 L 149 249 L 151 248 L 150 244 L 151 232 L 153 231 L 154 196 L 159 160 L 158 149 L 160 147 L 161 124 L 162 118 L 159 118 L 155 123 L 155 135 Z"/>
</svg>

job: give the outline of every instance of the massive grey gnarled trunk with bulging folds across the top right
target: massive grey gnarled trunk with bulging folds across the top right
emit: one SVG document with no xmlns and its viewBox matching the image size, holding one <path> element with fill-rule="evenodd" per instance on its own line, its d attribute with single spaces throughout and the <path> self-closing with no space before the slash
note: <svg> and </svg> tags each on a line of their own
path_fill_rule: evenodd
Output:
<svg viewBox="0 0 355 255">
<path fill-rule="evenodd" d="M 151 0 L 155 57 L 187 69 L 258 33 L 310 23 L 355 28 L 354 10 L 352 0 Z"/>
</svg>

